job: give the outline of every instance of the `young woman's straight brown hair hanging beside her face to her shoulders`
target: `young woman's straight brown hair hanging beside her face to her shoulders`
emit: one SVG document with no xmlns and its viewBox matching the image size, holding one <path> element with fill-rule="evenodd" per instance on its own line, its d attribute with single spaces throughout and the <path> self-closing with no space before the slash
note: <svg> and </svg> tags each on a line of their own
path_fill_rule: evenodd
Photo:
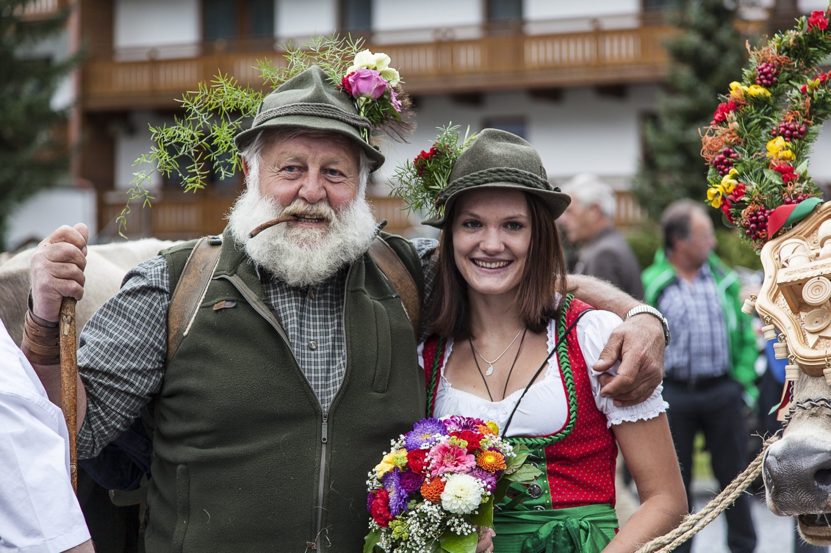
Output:
<svg viewBox="0 0 831 553">
<path fill-rule="evenodd" d="M 566 263 L 557 225 L 543 200 L 524 193 L 531 218 L 531 242 L 519 281 L 519 316 L 532 332 L 542 332 L 558 316 L 557 294 L 566 293 Z M 456 205 L 459 203 L 456 202 Z M 439 239 L 439 266 L 435 291 L 427 306 L 426 321 L 435 334 L 457 339 L 470 336 L 467 282 L 456 268 L 453 222 L 450 213 Z"/>
</svg>

